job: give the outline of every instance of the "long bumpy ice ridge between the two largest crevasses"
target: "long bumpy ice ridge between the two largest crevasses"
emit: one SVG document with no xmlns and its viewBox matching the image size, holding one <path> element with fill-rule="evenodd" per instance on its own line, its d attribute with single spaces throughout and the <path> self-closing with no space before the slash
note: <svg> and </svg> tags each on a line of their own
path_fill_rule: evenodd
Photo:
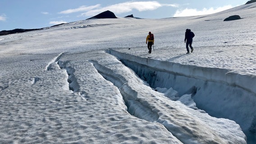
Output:
<svg viewBox="0 0 256 144">
<path fill-rule="evenodd" d="M 132 71 L 131 67 L 139 67 L 138 65 L 131 64 L 129 65 L 130 69 L 115 58 L 109 58 L 108 61 L 91 60 L 90 62 L 107 81 L 119 88 L 131 115 L 146 121 L 160 123 L 184 144 L 228 144 L 229 141 L 239 144 L 246 143 L 240 126 L 233 121 L 210 117 L 206 113 L 192 110 L 179 102 L 166 98 L 164 94 L 155 92 L 149 85 L 145 85 L 146 82 L 137 77 L 137 72 Z M 140 68 L 144 70 L 144 68 Z M 144 76 L 150 78 L 149 75 L 155 77 L 155 75 L 162 74 L 163 71 L 155 73 L 156 71 L 145 70 L 145 72 Z M 164 78 L 166 79 L 166 77 Z M 181 76 L 182 78 L 184 76 Z M 164 81 L 150 79 L 152 82 L 158 81 L 158 84 Z M 197 95 L 198 87 L 192 84 L 189 92 Z M 236 133 L 233 133 L 234 129 L 237 130 Z"/>
</svg>

